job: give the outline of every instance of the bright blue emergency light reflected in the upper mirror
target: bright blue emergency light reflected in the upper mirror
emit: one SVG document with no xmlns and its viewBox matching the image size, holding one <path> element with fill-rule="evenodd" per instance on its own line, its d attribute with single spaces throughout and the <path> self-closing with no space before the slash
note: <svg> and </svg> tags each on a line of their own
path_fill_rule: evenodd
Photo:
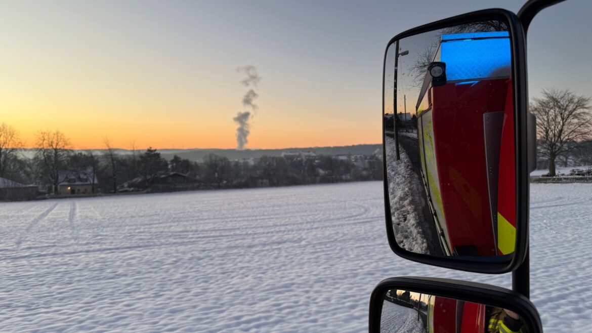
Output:
<svg viewBox="0 0 592 333">
<path fill-rule="evenodd" d="M 434 61 L 446 63 L 446 81 L 509 77 L 510 36 L 507 31 L 445 34 Z"/>
</svg>

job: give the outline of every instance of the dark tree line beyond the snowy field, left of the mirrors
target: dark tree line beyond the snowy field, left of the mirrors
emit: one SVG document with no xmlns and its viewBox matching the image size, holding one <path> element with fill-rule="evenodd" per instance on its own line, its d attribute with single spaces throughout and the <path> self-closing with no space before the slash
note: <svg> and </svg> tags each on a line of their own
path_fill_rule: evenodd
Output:
<svg viewBox="0 0 592 333">
<path fill-rule="evenodd" d="M 197 184 L 194 188 L 245 188 L 319 184 L 382 179 L 379 156 L 262 156 L 230 159 L 210 154 L 200 161 L 178 155 L 167 160 L 157 149 L 132 149 L 122 153 L 108 139 L 105 148 L 75 151 L 67 136 L 56 131 L 40 131 L 34 155 L 26 157 L 14 127 L 0 126 L 0 177 L 21 184 L 37 184 L 48 193 L 58 193 L 67 177 L 85 178 L 92 193 L 147 190 L 157 175 L 176 172 Z"/>
</svg>

